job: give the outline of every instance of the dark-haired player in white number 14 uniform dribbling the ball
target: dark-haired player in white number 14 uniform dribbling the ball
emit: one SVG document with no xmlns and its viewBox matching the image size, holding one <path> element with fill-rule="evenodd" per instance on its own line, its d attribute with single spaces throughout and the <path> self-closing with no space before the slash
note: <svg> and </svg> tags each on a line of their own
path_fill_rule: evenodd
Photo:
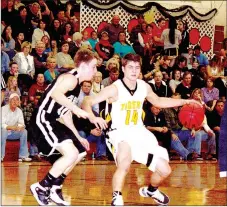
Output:
<svg viewBox="0 0 227 207">
<path fill-rule="evenodd" d="M 122 189 L 133 160 L 153 171 L 149 186 L 140 188 L 139 194 L 153 198 L 160 205 L 167 205 L 169 198 L 158 187 L 171 173 L 169 157 L 166 149 L 158 145 L 155 136 L 143 125 L 143 102 L 147 99 L 157 107 L 167 108 L 195 101 L 158 97 L 146 82 L 138 79 L 141 71 L 139 55 L 127 54 L 122 59 L 122 70 L 122 80 L 115 81 L 96 96 L 87 97 L 82 104 L 82 108 L 89 112 L 90 121 L 106 128 L 104 120 L 95 117 L 91 107 L 104 100 L 112 103 L 112 124 L 107 139 L 117 165 L 112 181 L 112 205 L 124 205 Z"/>
</svg>

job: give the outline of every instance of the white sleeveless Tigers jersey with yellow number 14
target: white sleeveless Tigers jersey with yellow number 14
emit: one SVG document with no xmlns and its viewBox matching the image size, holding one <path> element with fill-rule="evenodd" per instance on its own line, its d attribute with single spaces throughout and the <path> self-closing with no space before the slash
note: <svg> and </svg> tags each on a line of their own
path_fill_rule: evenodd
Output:
<svg viewBox="0 0 227 207">
<path fill-rule="evenodd" d="M 147 96 L 146 83 L 143 80 L 137 80 L 134 94 L 130 93 L 130 90 L 122 80 L 117 80 L 113 84 L 118 90 L 118 100 L 112 103 L 111 128 L 143 126 L 143 102 Z"/>
</svg>

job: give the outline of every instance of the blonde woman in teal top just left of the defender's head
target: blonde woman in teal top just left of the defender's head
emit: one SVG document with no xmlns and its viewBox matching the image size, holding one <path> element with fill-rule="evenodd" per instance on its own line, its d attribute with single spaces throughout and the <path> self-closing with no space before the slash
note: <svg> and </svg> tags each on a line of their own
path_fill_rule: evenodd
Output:
<svg viewBox="0 0 227 207">
<path fill-rule="evenodd" d="M 45 82 L 50 84 L 60 73 L 55 69 L 57 66 L 56 58 L 49 56 L 47 58 L 47 70 L 44 73 Z"/>
</svg>

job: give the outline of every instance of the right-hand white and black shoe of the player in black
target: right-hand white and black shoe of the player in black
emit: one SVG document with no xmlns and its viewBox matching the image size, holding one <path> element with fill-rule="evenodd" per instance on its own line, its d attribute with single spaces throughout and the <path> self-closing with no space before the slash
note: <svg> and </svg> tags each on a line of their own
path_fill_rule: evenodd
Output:
<svg viewBox="0 0 227 207">
<path fill-rule="evenodd" d="M 53 185 L 50 189 L 50 199 L 59 206 L 69 206 L 70 203 L 65 201 L 62 196 L 62 185 Z"/>
</svg>

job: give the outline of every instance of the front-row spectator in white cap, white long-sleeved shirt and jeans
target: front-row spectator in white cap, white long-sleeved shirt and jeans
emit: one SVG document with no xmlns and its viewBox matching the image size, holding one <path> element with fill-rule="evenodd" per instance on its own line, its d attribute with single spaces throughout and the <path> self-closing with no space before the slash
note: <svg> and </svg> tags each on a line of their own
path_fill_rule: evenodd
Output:
<svg viewBox="0 0 227 207">
<path fill-rule="evenodd" d="M 5 157 L 6 140 L 20 139 L 18 161 L 30 162 L 27 143 L 27 130 L 25 129 L 22 110 L 18 107 L 20 98 L 16 93 L 9 97 L 9 104 L 2 107 L 2 137 L 1 160 Z"/>
</svg>

